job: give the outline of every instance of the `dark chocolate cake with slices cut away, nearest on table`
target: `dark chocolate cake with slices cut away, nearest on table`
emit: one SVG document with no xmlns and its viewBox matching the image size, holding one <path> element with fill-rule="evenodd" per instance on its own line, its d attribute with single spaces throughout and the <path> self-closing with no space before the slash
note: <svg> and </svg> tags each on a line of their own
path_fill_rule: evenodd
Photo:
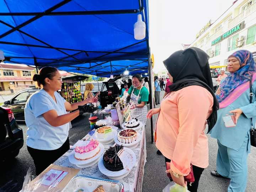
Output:
<svg viewBox="0 0 256 192">
<path fill-rule="evenodd" d="M 123 163 L 119 159 L 117 153 L 123 150 L 123 145 L 115 145 L 110 147 L 103 155 L 103 164 L 107 170 L 121 171 L 123 170 Z"/>
</svg>

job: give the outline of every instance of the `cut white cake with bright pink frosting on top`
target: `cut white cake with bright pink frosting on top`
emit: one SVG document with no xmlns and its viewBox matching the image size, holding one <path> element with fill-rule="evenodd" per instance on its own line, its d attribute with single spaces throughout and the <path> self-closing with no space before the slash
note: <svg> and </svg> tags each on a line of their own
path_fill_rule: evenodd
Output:
<svg viewBox="0 0 256 192">
<path fill-rule="evenodd" d="M 87 160 L 96 156 L 100 152 L 100 145 L 97 140 L 90 140 L 88 145 L 75 147 L 75 158 L 77 160 Z"/>
</svg>

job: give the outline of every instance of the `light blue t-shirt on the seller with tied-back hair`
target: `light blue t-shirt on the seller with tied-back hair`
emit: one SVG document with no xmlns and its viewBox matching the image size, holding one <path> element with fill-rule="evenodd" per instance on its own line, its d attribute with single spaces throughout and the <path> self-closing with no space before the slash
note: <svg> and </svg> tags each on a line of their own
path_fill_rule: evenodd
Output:
<svg viewBox="0 0 256 192">
<path fill-rule="evenodd" d="M 25 106 L 25 121 L 27 129 L 27 146 L 41 150 L 55 150 L 60 148 L 68 138 L 69 124 L 59 127 L 51 126 L 42 114 L 50 110 L 58 115 L 66 114 L 65 99 L 54 92 L 57 103 L 43 89 L 35 92 Z"/>
</svg>

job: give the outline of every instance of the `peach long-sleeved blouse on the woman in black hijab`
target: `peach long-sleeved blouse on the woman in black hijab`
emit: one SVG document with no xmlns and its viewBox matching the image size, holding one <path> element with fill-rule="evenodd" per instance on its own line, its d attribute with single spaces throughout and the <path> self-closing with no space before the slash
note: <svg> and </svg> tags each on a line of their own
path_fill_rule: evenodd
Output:
<svg viewBox="0 0 256 192">
<path fill-rule="evenodd" d="M 190 163 L 208 166 L 208 138 L 204 129 L 212 107 L 213 96 L 197 85 L 173 91 L 161 102 L 156 147 L 171 159 L 172 171 L 186 176 Z"/>
</svg>

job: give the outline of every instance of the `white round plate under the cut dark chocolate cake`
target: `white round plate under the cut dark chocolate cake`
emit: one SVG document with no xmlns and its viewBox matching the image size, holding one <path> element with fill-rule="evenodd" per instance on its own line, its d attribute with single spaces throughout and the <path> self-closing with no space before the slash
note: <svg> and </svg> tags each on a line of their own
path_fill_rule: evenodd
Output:
<svg viewBox="0 0 256 192">
<path fill-rule="evenodd" d="M 126 155 L 127 158 L 130 159 L 129 163 L 130 163 L 130 166 L 133 168 L 134 165 L 136 164 L 135 153 L 133 152 L 133 150 L 126 148 L 126 147 L 124 147 L 123 153 L 124 153 L 123 155 Z M 98 161 L 98 169 L 100 170 L 100 172 L 102 172 L 102 174 L 108 176 L 109 178 L 111 178 L 113 180 L 120 180 L 120 179 L 126 177 L 129 174 L 129 172 L 132 170 L 132 169 L 130 169 L 130 170 L 123 169 L 121 171 L 108 170 L 103 164 L 103 155 L 100 157 L 100 159 Z"/>
</svg>

